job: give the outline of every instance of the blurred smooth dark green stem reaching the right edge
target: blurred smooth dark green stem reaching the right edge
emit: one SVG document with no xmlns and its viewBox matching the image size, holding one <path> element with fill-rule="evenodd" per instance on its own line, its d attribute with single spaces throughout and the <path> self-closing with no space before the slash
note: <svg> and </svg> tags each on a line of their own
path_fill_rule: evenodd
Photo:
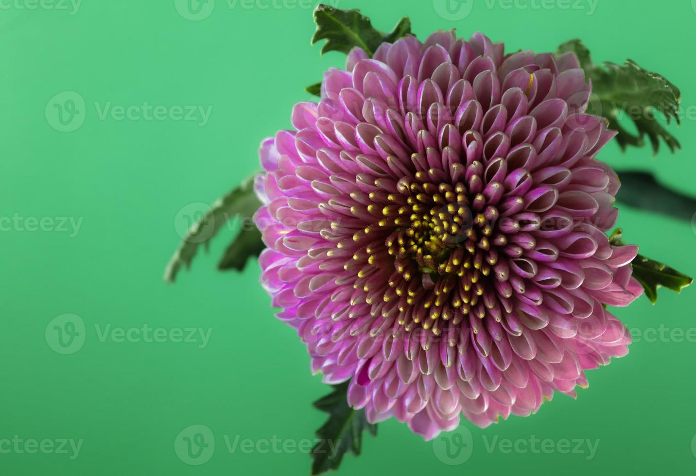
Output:
<svg viewBox="0 0 696 476">
<path fill-rule="evenodd" d="M 694 198 L 668 189 L 651 173 L 621 172 L 619 180 L 621 188 L 616 198 L 626 205 L 687 221 L 696 212 Z"/>
</svg>

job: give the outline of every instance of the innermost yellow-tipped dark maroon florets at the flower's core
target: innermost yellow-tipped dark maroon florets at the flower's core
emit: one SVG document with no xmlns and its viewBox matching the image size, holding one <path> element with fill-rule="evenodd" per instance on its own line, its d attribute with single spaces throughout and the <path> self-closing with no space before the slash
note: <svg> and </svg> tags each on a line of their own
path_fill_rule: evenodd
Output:
<svg viewBox="0 0 696 476">
<path fill-rule="evenodd" d="M 442 320 L 457 321 L 469 312 L 484 317 L 489 306 L 481 298 L 482 281 L 498 261 L 495 248 L 507 242 L 504 235 L 493 236 L 498 209 L 481 193 L 470 197 L 461 182 L 435 185 L 404 177 L 397 191 L 404 199 L 392 201 L 402 204 L 384 207 L 379 221 L 395 228 L 385 241 L 395 273 L 383 300 L 398 301 L 406 330 L 420 324 L 437 334 Z"/>
</svg>

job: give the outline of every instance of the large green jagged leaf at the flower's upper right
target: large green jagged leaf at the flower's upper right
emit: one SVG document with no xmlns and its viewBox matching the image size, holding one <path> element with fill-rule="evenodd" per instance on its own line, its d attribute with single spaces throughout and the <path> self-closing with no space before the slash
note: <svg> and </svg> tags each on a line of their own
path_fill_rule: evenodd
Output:
<svg viewBox="0 0 696 476">
<path fill-rule="evenodd" d="M 658 122 L 655 111 L 667 120 L 674 118 L 679 124 L 679 103 L 681 93 L 670 81 L 660 74 L 640 68 L 630 59 L 623 65 L 604 63 L 595 65 L 580 40 L 571 40 L 558 49 L 558 54 L 573 51 L 580 58 L 585 76 L 592 79 L 593 97 L 587 112 L 603 116 L 609 120 L 609 128 L 619 132 L 617 141 L 622 149 L 631 145 L 642 147 L 647 136 L 653 152 L 657 154 L 662 139 L 672 152 L 680 149 L 679 141 Z M 622 127 L 620 120 L 633 120 L 638 135 L 631 134 Z"/>
</svg>

